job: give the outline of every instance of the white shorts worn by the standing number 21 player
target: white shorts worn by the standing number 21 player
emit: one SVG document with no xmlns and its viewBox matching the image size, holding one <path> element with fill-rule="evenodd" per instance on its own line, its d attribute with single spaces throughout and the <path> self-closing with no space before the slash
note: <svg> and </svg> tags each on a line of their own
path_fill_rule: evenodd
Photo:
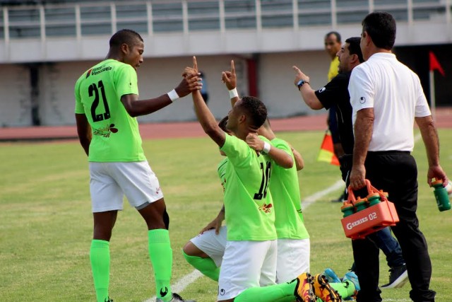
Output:
<svg viewBox="0 0 452 302">
<path fill-rule="evenodd" d="M 157 176 L 148 161 L 90 162 L 89 165 L 93 213 L 122 210 L 124 195 L 137 209 L 163 198 Z"/>
</svg>

